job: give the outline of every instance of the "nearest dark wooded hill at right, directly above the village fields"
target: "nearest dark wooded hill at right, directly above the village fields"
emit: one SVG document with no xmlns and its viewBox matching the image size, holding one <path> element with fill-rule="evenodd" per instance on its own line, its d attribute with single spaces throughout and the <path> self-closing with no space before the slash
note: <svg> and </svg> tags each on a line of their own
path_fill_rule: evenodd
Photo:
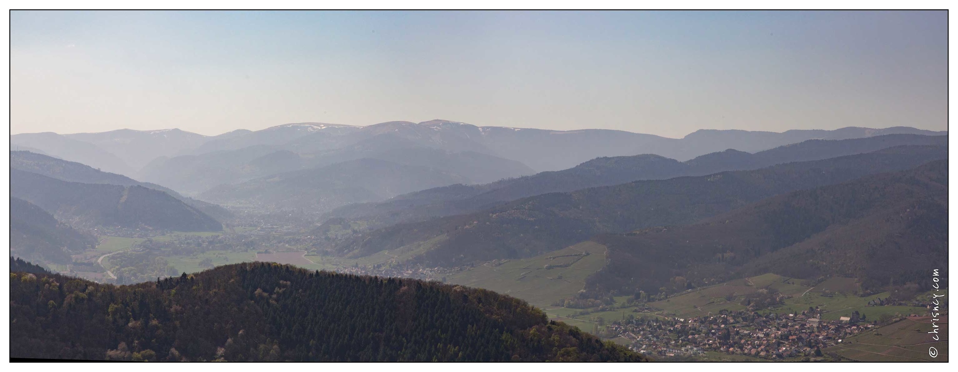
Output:
<svg viewBox="0 0 958 372">
<path fill-rule="evenodd" d="M 694 225 L 593 239 L 609 259 L 594 293 L 680 292 L 733 277 L 855 277 L 865 289 L 923 282 L 947 261 L 947 160 L 794 191 Z M 682 277 L 682 280 L 675 280 Z"/>
</svg>

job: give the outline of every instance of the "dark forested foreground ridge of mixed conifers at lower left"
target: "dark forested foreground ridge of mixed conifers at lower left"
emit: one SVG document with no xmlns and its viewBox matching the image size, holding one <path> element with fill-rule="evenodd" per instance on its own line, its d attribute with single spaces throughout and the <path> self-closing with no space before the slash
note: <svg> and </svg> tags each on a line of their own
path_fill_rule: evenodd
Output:
<svg viewBox="0 0 958 372">
<path fill-rule="evenodd" d="M 646 361 L 508 295 L 274 263 L 128 286 L 11 273 L 10 307 L 13 358 Z"/>
</svg>

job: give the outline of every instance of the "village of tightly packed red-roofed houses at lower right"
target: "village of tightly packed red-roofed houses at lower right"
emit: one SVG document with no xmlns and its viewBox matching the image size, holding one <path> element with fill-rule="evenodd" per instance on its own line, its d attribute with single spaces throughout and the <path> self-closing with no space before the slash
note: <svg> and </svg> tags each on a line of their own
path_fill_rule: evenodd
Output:
<svg viewBox="0 0 958 372">
<path fill-rule="evenodd" d="M 652 356 L 696 356 L 715 351 L 786 359 L 820 357 L 821 349 L 874 326 L 854 320 L 823 320 L 812 312 L 762 315 L 740 311 L 707 317 L 634 318 L 615 321 L 609 329 L 631 340 L 632 350 Z"/>
</svg>

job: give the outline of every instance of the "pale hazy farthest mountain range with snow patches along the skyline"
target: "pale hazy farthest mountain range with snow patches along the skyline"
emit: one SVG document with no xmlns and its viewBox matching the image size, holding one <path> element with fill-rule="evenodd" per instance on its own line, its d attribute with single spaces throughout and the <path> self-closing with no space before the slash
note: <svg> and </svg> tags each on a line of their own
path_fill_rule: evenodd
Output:
<svg viewBox="0 0 958 372">
<path fill-rule="evenodd" d="M 14 149 L 25 146 L 24 149 L 196 194 L 220 184 L 240 183 L 297 170 L 283 162 L 284 155 L 270 158 L 274 152 L 299 154 L 301 159 L 293 159 L 292 164 L 301 164 L 301 168 L 317 167 L 329 165 L 334 159 L 340 159 L 340 162 L 359 159 L 356 156 L 365 155 L 348 147 L 366 141 L 376 142 L 373 139 L 379 136 L 401 139 L 406 147 L 474 152 L 518 162 L 532 169 L 524 175 L 565 169 L 598 157 L 655 154 L 686 161 L 729 148 L 756 152 L 811 139 L 844 140 L 887 134 L 944 135 L 946 132 L 910 127 L 847 127 L 784 133 L 699 130 L 682 139 L 669 139 L 605 129 L 555 131 L 429 120 L 420 123 L 389 121 L 368 126 L 302 122 L 259 131 L 237 130 L 218 136 L 202 136 L 179 129 L 123 129 L 69 135 L 34 133 L 11 136 L 11 145 Z M 384 142 L 395 141 L 376 143 Z M 264 156 L 267 158 L 253 162 Z M 270 163 L 273 161 L 275 163 Z M 249 164 L 251 162 L 253 164 Z M 185 175 L 173 176 L 172 169 Z M 168 179 L 170 177 L 172 179 Z M 472 182 L 490 181 L 480 179 Z"/>
</svg>

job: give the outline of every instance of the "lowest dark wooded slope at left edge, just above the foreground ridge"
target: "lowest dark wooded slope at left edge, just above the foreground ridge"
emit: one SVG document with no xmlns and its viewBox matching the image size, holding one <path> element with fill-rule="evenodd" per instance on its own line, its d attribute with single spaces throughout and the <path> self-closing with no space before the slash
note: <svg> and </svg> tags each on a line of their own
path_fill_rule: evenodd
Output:
<svg viewBox="0 0 958 372">
<path fill-rule="evenodd" d="M 10 198 L 10 252 L 28 260 L 70 263 L 70 254 L 93 248 L 97 238 L 61 224 L 29 202 Z"/>
</svg>

